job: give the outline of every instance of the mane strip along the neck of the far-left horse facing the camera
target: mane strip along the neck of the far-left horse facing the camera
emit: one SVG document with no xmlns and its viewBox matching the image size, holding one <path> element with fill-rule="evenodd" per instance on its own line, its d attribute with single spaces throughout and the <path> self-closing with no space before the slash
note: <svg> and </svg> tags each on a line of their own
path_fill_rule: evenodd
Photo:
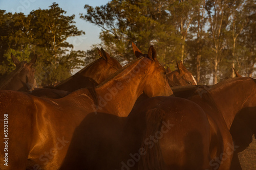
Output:
<svg viewBox="0 0 256 170">
<path fill-rule="evenodd" d="M 15 78 L 15 76 L 23 70 L 25 64 L 27 64 L 27 61 L 20 62 L 20 64 L 18 64 L 18 66 L 13 71 L 1 79 L 0 89 L 4 89 Z"/>
</svg>

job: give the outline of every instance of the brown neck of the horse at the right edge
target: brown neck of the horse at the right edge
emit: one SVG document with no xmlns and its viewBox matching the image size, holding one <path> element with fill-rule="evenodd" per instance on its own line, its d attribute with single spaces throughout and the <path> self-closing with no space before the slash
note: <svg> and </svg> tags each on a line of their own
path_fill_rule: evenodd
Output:
<svg viewBox="0 0 256 170">
<path fill-rule="evenodd" d="M 223 116 L 228 129 L 230 129 L 236 114 L 241 109 L 248 107 L 246 103 L 250 96 L 256 96 L 254 89 L 254 94 L 251 94 L 252 89 L 249 81 L 251 81 L 250 78 L 230 79 L 209 90 L 212 104 Z"/>
</svg>

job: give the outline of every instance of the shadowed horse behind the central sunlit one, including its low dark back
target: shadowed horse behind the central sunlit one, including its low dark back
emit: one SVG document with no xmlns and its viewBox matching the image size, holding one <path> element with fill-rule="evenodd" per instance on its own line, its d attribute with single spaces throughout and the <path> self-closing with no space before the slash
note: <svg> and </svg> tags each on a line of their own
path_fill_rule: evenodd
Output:
<svg viewBox="0 0 256 170">
<path fill-rule="evenodd" d="M 97 48 L 97 50 L 100 58 L 78 71 L 74 76 L 54 86 L 54 89 L 38 88 L 31 91 L 30 94 L 52 99 L 63 98 L 63 96 L 68 95 L 72 91 L 85 87 L 96 87 L 118 69 L 122 68 L 119 62 L 110 57 L 103 48 L 100 50 Z"/>
</svg>

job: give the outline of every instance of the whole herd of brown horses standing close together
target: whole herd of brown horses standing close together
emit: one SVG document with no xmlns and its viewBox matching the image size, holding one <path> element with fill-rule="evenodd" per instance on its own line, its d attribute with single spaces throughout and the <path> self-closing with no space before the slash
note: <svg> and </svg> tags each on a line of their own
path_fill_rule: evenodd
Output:
<svg viewBox="0 0 256 170">
<path fill-rule="evenodd" d="M 171 71 L 153 46 L 132 46 L 131 63 L 101 48 L 49 88 L 35 88 L 37 56 L 12 55 L 16 69 L 0 81 L 0 169 L 242 169 L 238 153 L 256 134 L 256 80 L 236 72 L 197 85 L 182 62 Z"/>
</svg>

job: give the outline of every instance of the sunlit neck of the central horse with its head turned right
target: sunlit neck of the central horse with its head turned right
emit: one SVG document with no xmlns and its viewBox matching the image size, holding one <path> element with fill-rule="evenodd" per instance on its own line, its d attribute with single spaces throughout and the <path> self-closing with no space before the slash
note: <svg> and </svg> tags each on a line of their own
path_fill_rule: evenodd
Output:
<svg viewBox="0 0 256 170">
<path fill-rule="evenodd" d="M 143 59 L 143 58 L 142 58 Z M 138 97 L 143 93 L 146 75 L 150 66 L 138 67 L 145 60 L 136 60 L 128 67 L 117 71 L 109 81 L 96 87 L 99 112 L 127 116 Z M 136 72 L 139 68 L 139 71 Z"/>
</svg>

